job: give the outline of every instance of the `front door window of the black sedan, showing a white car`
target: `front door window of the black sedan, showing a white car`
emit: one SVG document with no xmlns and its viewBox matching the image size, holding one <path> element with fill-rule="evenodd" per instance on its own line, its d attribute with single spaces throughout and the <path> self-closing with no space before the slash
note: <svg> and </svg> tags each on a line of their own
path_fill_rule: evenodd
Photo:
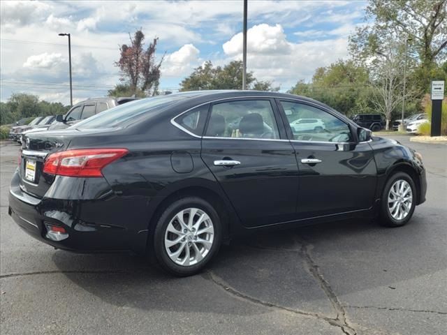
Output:
<svg viewBox="0 0 447 335">
<path fill-rule="evenodd" d="M 316 142 L 349 142 L 351 130 L 344 121 L 319 108 L 281 101 L 293 139 Z"/>
</svg>

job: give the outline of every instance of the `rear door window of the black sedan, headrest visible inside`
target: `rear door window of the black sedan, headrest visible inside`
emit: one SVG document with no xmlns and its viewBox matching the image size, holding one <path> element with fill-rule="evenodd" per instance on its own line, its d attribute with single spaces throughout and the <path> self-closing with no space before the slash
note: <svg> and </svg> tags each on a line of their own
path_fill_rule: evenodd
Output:
<svg viewBox="0 0 447 335">
<path fill-rule="evenodd" d="M 277 123 L 268 100 L 230 101 L 212 106 L 205 135 L 277 139 Z"/>
</svg>

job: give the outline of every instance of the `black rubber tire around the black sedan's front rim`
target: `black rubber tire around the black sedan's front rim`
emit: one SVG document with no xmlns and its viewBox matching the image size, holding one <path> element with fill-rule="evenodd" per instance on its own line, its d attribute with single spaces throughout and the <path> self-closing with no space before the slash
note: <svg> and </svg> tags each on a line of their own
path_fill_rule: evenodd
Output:
<svg viewBox="0 0 447 335">
<path fill-rule="evenodd" d="M 388 204 L 388 194 L 390 193 L 390 188 L 396 183 L 396 181 L 404 180 L 406 181 L 409 186 L 411 186 L 411 208 L 406 214 L 404 218 L 401 220 L 397 220 L 396 218 L 393 218 L 393 216 L 390 213 L 389 204 Z M 381 200 L 381 207 L 380 207 L 380 223 L 381 225 L 385 225 L 387 227 L 402 227 L 402 225 L 405 225 L 410 221 L 411 216 L 413 216 L 414 209 L 416 207 L 416 200 L 417 200 L 418 194 L 417 194 L 417 188 L 414 184 L 413 179 L 409 176 L 409 174 L 406 174 L 405 172 L 397 172 L 393 174 L 388 181 L 386 182 L 385 187 L 383 188 L 382 193 L 382 200 Z"/>
</svg>

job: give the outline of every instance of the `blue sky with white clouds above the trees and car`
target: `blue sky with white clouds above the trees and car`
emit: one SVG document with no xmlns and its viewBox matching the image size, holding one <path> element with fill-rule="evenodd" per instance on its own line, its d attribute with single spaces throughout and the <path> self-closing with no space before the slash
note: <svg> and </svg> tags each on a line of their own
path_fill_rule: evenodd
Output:
<svg viewBox="0 0 447 335">
<path fill-rule="evenodd" d="M 316 68 L 348 57 L 348 36 L 364 24 L 366 1 L 248 1 L 247 70 L 287 91 Z M 161 91 L 205 61 L 242 59 L 243 1 L 0 1 L 0 99 L 36 94 L 73 103 L 104 96 L 119 83 L 119 45 L 142 29 L 159 38 Z"/>
</svg>

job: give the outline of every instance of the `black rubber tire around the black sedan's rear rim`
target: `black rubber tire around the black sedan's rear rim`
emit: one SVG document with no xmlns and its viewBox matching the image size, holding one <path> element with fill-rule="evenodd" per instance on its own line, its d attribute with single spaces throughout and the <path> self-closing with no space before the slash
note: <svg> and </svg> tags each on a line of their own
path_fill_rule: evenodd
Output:
<svg viewBox="0 0 447 335">
<path fill-rule="evenodd" d="M 165 248 L 165 234 L 166 229 L 170 221 L 175 217 L 179 211 L 183 209 L 197 208 L 204 211 L 211 219 L 212 226 L 214 227 L 214 239 L 212 241 L 212 246 L 208 251 L 207 255 L 200 260 L 195 265 L 178 265 L 173 260 L 170 259 L 166 248 Z M 168 271 L 168 273 L 174 276 L 192 276 L 193 274 L 198 274 L 205 268 L 205 266 L 212 260 L 213 256 L 219 251 L 221 245 L 221 220 L 219 214 L 214 209 L 212 204 L 203 200 L 202 198 L 188 196 L 173 202 L 164 211 L 156 222 L 156 227 L 153 234 L 153 248 L 156 261 L 161 266 L 162 269 Z M 149 248 L 149 252 L 151 248 Z"/>
</svg>

